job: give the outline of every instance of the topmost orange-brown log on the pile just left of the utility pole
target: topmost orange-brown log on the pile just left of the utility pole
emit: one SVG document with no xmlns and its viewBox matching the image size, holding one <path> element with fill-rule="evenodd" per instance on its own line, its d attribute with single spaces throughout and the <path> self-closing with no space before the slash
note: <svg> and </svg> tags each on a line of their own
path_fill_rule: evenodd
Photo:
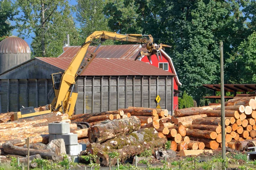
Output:
<svg viewBox="0 0 256 170">
<path fill-rule="evenodd" d="M 204 106 L 204 107 L 194 107 L 194 108 L 184 108 L 184 109 L 175 110 L 174 115 L 176 117 L 183 117 L 183 116 L 203 114 L 202 111 L 212 110 L 215 107 L 216 107 L 216 105 L 214 105 L 214 106 Z"/>
</svg>

